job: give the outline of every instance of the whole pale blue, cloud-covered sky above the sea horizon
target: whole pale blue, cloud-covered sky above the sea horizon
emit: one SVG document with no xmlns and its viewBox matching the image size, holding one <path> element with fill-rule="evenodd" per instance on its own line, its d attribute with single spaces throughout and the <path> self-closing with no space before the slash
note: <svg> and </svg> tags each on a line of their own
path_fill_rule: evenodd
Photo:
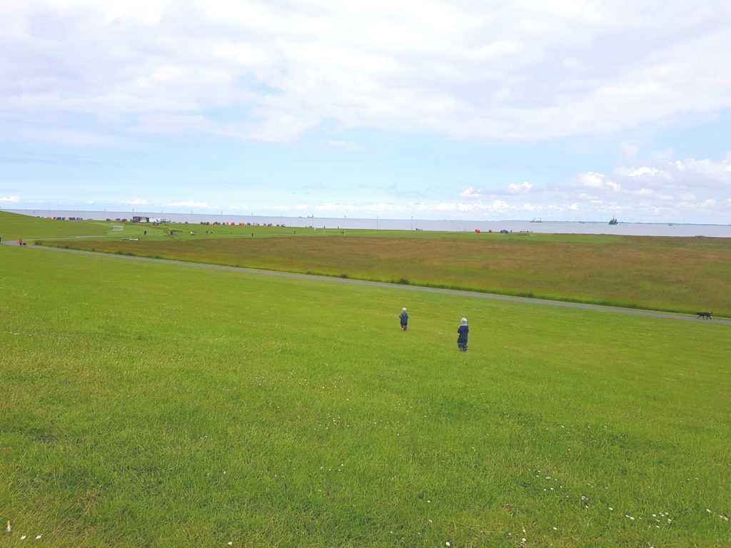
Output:
<svg viewBox="0 0 731 548">
<path fill-rule="evenodd" d="M 731 2 L 3 1 L 0 208 L 731 224 Z"/>
</svg>

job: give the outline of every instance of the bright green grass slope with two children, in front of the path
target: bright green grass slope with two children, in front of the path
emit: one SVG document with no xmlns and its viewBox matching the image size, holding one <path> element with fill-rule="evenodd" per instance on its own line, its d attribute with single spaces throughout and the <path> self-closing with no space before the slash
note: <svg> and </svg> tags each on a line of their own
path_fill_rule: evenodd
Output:
<svg viewBox="0 0 731 548">
<path fill-rule="evenodd" d="M 0 264 L 2 547 L 731 542 L 726 325 Z"/>
</svg>

